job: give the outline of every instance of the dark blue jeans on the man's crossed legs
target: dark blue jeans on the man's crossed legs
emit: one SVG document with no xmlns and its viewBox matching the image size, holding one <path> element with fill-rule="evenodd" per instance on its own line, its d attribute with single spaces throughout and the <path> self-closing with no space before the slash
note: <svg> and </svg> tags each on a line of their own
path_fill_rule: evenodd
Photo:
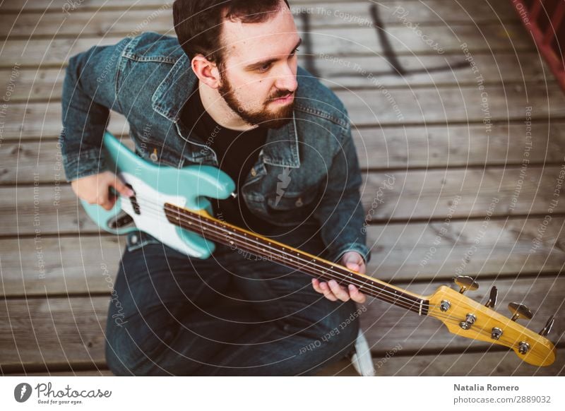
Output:
<svg viewBox="0 0 565 411">
<path fill-rule="evenodd" d="M 323 256 L 312 225 L 267 237 Z M 352 300 L 331 302 L 310 275 L 216 245 L 201 260 L 129 235 L 107 321 L 114 374 L 311 375 L 352 351 Z"/>
</svg>

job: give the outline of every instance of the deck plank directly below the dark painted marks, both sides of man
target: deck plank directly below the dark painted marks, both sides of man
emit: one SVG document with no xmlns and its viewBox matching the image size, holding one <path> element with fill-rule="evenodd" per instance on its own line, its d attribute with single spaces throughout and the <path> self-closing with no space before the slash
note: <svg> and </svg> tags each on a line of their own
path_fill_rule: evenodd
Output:
<svg viewBox="0 0 565 411">
<path fill-rule="evenodd" d="M 490 134 L 497 121 L 525 121 L 525 107 L 533 107 L 529 117 L 533 121 L 565 117 L 565 95 L 558 88 L 544 90 L 528 85 L 518 90 L 492 85 L 485 89 L 488 97 L 484 103 L 482 91 L 472 86 L 382 90 L 337 90 L 336 95 L 347 107 L 354 126 L 487 122 L 484 133 Z M 124 124 L 124 117 L 117 115 L 110 121 L 109 129 L 122 135 Z M 61 127 L 60 102 L 11 103 L 6 109 L 3 137 L 55 137 Z"/>
</svg>

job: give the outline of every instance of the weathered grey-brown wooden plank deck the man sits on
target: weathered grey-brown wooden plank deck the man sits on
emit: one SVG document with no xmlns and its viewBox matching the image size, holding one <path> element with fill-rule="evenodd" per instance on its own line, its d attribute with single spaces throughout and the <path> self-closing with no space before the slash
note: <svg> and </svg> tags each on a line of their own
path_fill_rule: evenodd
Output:
<svg viewBox="0 0 565 411">
<path fill-rule="evenodd" d="M 61 83 L 69 57 L 93 44 L 174 35 L 163 4 L 0 6 L 0 374 L 110 374 L 103 332 L 124 239 L 100 233 L 65 184 Z M 558 314 L 557 361 L 538 369 L 369 300 L 362 323 L 377 374 L 564 375 L 565 198 L 554 193 L 565 97 L 510 1 L 291 4 L 306 40 L 300 64 L 335 90 L 355 125 L 369 273 L 422 294 L 476 275 L 480 290 L 468 296 L 484 301 L 496 285 L 498 310 L 528 304 L 534 330 Z M 128 133 L 118 115 L 109 129 Z M 321 374 L 355 371 L 341 362 Z"/>
</svg>

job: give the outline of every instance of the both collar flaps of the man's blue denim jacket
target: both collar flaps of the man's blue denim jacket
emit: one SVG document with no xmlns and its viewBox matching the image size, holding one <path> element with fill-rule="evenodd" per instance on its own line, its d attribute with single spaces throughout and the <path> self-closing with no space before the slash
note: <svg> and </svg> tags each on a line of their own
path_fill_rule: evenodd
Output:
<svg viewBox="0 0 565 411">
<path fill-rule="evenodd" d="M 182 53 L 182 56 L 179 57 L 153 93 L 153 97 L 151 97 L 153 110 L 169 121 L 176 123 L 181 115 L 182 107 L 186 100 L 189 100 L 191 90 L 194 90 L 197 81 L 198 78 L 192 71 L 189 56 Z M 300 167 L 298 133 L 294 112 L 292 112 L 292 121 L 288 124 L 280 129 L 268 130 L 265 148 L 263 148 L 263 162 L 281 167 Z"/>
</svg>

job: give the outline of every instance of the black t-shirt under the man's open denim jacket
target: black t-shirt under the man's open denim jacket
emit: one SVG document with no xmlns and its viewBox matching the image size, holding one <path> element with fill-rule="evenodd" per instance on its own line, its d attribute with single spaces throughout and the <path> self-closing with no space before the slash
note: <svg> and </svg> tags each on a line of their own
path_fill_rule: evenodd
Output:
<svg viewBox="0 0 565 411">
<path fill-rule="evenodd" d="M 236 198 L 210 198 L 215 217 L 247 230 L 267 234 L 273 226 L 251 213 L 239 191 L 265 145 L 268 129 L 257 127 L 249 131 L 236 131 L 220 126 L 204 109 L 198 83 L 182 108 L 181 119 L 185 126 L 215 151 L 218 166 L 235 182 Z"/>
</svg>

